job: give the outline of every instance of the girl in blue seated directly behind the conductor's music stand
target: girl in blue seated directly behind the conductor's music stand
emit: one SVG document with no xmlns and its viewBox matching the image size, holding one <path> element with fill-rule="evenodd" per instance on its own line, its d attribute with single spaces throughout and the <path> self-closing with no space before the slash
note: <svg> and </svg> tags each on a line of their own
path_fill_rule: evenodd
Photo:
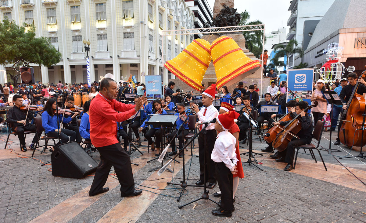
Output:
<svg viewBox="0 0 366 223">
<path fill-rule="evenodd" d="M 156 99 L 153 101 L 153 110 L 151 112 L 151 114 L 167 114 L 167 112 L 165 110 L 163 110 L 162 108 L 162 104 L 160 102 L 159 99 Z M 148 121 L 150 118 L 148 117 L 143 124 L 141 125 L 139 132 L 142 132 L 143 129 L 145 129 L 146 124 L 145 122 Z M 144 131 L 144 133 L 146 132 L 146 130 Z M 156 142 L 153 142 L 152 136 L 155 134 L 155 138 L 156 138 Z M 160 154 L 160 141 L 161 141 L 161 128 L 153 128 L 153 126 L 150 126 L 149 131 L 147 131 L 145 133 L 145 137 L 147 139 L 147 141 L 149 142 L 149 145 L 151 145 L 151 150 L 154 151 L 156 148 L 156 152 L 155 156 L 159 156 Z M 155 147 L 156 146 L 156 147 Z"/>
</svg>

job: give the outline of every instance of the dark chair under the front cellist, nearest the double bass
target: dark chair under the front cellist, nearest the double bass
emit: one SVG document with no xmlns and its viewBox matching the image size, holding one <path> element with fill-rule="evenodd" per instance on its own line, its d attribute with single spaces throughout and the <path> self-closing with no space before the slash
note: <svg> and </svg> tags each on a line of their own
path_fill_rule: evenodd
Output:
<svg viewBox="0 0 366 223">
<path fill-rule="evenodd" d="M 304 149 L 304 150 L 309 149 L 311 157 L 315 160 L 315 163 L 317 163 L 317 159 L 315 158 L 315 154 L 313 152 L 313 149 L 316 149 L 316 150 L 318 150 L 320 159 L 323 162 L 325 171 L 328 171 L 326 169 L 323 157 L 321 156 L 320 150 L 318 149 L 318 147 L 320 145 L 321 136 L 323 134 L 323 129 L 324 129 L 324 118 L 319 118 L 319 120 L 315 124 L 315 128 L 314 128 L 314 131 L 313 131 L 313 138 L 318 140 L 318 145 L 315 146 L 314 144 L 310 143 L 310 144 L 307 144 L 307 145 L 300 145 L 300 146 L 296 147 L 295 148 L 296 149 L 296 157 L 295 157 L 294 169 L 295 169 L 295 166 L 296 166 L 296 160 L 297 160 L 299 149 Z"/>
</svg>

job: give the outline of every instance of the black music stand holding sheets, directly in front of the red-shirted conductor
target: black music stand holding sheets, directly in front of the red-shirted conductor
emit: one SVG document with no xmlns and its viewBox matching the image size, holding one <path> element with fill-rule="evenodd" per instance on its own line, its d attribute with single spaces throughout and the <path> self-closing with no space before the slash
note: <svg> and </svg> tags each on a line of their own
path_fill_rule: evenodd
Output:
<svg viewBox="0 0 366 223">
<path fill-rule="evenodd" d="M 160 115 L 150 115 L 151 118 L 149 121 L 145 122 L 146 125 L 153 125 L 153 127 L 160 127 L 161 128 L 161 139 L 160 139 L 160 144 L 162 145 L 162 142 L 163 142 L 163 135 L 164 135 L 164 128 L 163 126 L 166 128 L 166 127 L 174 127 L 174 126 L 177 126 L 177 124 L 175 123 L 175 121 L 177 121 L 178 119 L 178 116 L 174 116 L 172 114 L 160 114 Z M 163 146 L 161 146 L 161 151 L 163 151 Z M 167 158 L 168 157 L 168 158 Z M 153 160 L 157 160 L 159 159 L 159 157 L 155 157 L 149 161 L 147 161 L 147 163 L 153 161 Z M 167 154 L 165 154 L 164 156 L 164 159 L 169 159 L 171 160 L 172 157 L 168 156 Z M 176 161 L 177 163 L 180 163 L 180 161 L 177 161 L 177 160 L 174 160 Z M 163 167 L 163 161 L 161 161 L 161 167 Z M 152 171 L 156 171 L 157 169 L 160 169 L 161 167 L 155 167 L 153 169 L 150 169 L 149 172 L 152 172 Z M 171 169 L 167 168 L 167 170 L 169 172 L 173 172 Z"/>
</svg>

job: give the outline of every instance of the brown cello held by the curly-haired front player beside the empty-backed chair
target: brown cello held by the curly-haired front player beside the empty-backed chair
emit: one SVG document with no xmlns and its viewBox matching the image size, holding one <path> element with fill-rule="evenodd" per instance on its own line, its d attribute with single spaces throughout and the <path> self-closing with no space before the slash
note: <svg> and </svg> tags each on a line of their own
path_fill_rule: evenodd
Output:
<svg viewBox="0 0 366 223">
<path fill-rule="evenodd" d="M 312 107 L 318 106 L 317 101 L 314 101 L 313 105 L 308 106 L 304 112 L 305 116 L 308 115 L 307 110 L 311 109 Z M 282 152 L 287 148 L 288 143 L 291 141 L 292 137 L 299 138 L 296 136 L 296 134 L 301 130 L 301 121 L 300 121 L 300 114 L 298 114 L 295 118 L 293 118 L 286 126 L 283 128 L 280 126 L 277 126 L 277 128 L 280 128 L 281 131 L 276 135 L 276 140 L 272 142 L 272 146 L 274 149 L 277 149 L 277 151 Z"/>
</svg>

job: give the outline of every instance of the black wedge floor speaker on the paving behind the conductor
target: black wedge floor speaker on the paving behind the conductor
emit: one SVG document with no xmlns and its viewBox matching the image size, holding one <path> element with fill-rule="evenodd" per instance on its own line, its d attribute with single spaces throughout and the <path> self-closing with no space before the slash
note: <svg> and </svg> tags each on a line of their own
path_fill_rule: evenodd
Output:
<svg viewBox="0 0 366 223">
<path fill-rule="evenodd" d="M 82 178 L 96 171 L 98 163 L 79 144 L 57 145 L 51 154 L 52 175 Z"/>
</svg>

